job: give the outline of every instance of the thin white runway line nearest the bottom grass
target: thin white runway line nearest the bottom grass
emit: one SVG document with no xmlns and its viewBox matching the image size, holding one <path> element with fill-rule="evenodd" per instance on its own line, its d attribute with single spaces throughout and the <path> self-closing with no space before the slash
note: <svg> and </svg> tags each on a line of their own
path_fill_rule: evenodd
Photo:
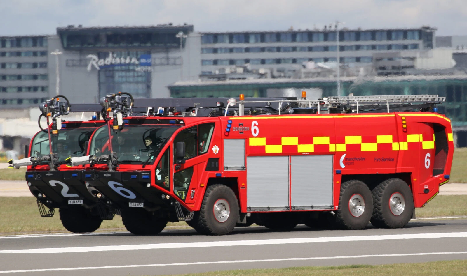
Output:
<svg viewBox="0 0 467 276">
<path fill-rule="evenodd" d="M 283 258 L 283 259 L 264 259 L 264 260 L 235 260 L 235 261 L 218 261 L 218 262 L 154 263 L 154 264 L 109 265 L 109 266 L 94 266 L 94 267 L 58 268 L 58 269 L 23 269 L 23 270 L 4 270 L 4 271 L 0 271 L 0 273 L 25 273 L 25 272 L 65 271 L 65 270 L 85 270 L 85 269 L 122 269 L 122 268 L 139 268 L 139 267 L 163 267 L 163 266 L 180 266 L 180 265 L 239 263 L 239 262 L 311 261 L 311 260 L 353 259 L 353 258 L 368 258 L 368 257 L 402 257 L 402 256 L 453 255 L 453 254 L 467 254 L 467 251 L 331 256 L 331 257 L 310 257 L 310 258 Z"/>
</svg>

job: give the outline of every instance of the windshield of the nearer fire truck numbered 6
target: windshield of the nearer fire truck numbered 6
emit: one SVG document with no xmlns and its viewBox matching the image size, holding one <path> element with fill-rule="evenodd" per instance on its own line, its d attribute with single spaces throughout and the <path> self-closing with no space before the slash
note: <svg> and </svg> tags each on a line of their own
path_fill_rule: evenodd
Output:
<svg viewBox="0 0 467 276">
<path fill-rule="evenodd" d="M 117 133 L 112 131 L 112 148 L 119 164 L 147 164 L 156 160 L 163 145 L 179 128 L 178 125 L 125 125 Z M 110 154 L 107 126 L 101 126 L 92 137 L 92 155 Z"/>
</svg>

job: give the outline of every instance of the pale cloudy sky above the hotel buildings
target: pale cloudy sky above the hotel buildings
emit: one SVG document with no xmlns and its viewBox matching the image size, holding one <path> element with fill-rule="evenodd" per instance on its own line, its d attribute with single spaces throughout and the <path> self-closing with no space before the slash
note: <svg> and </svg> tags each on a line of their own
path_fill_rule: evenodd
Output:
<svg viewBox="0 0 467 276">
<path fill-rule="evenodd" d="M 466 0 L 0 0 L 0 36 L 57 27 L 193 24 L 199 32 L 343 27 L 438 28 L 467 35 Z"/>
</svg>

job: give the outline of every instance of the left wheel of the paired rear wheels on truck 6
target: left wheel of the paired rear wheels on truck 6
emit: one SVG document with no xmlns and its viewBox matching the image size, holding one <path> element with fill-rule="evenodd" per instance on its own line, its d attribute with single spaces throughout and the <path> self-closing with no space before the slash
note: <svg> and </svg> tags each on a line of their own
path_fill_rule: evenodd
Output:
<svg viewBox="0 0 467 276">
<path fill-rule="evenodd" d="M 360 180 L 348 180 L 340 185 L 339 207 L 335 212 L 337 226 L 343 229 L 367 227 L 373 213 L 373 197 Z"/>
</svg>

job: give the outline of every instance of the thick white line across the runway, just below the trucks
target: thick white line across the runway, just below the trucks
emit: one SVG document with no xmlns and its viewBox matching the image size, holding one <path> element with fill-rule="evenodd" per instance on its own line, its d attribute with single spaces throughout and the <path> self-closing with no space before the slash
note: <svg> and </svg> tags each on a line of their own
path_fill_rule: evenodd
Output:
<svg viewBox="0 0 467 276">
<path fill-rule="evenodd" d="M 266 244 L 312 243 L 312 242 L 357 242 L 357 241 L 437 239 L 437 238 L 460 238 L 460 237 L 463 237 L 463 238 L 467 237 L 467 232 L 343 236 L 343 237 L 315 237 L 315 238 L 219 241 L 219 242 L 127 244 L 127 245 L 104 245 L 104 246 L 64 247 L 64 248 L 7 249 L 7 250 L 0 250 L 0 253 L 20 253 L 20 254 L 21 253 L 36 253 L 36 254 L 78 253 L 78 252 L 139 250 L 139 249 L 202 248 L 202 247 L 225 247 L 225 246 L 251 246 L 251 245 L 266 245 Z"/>
</svg>

